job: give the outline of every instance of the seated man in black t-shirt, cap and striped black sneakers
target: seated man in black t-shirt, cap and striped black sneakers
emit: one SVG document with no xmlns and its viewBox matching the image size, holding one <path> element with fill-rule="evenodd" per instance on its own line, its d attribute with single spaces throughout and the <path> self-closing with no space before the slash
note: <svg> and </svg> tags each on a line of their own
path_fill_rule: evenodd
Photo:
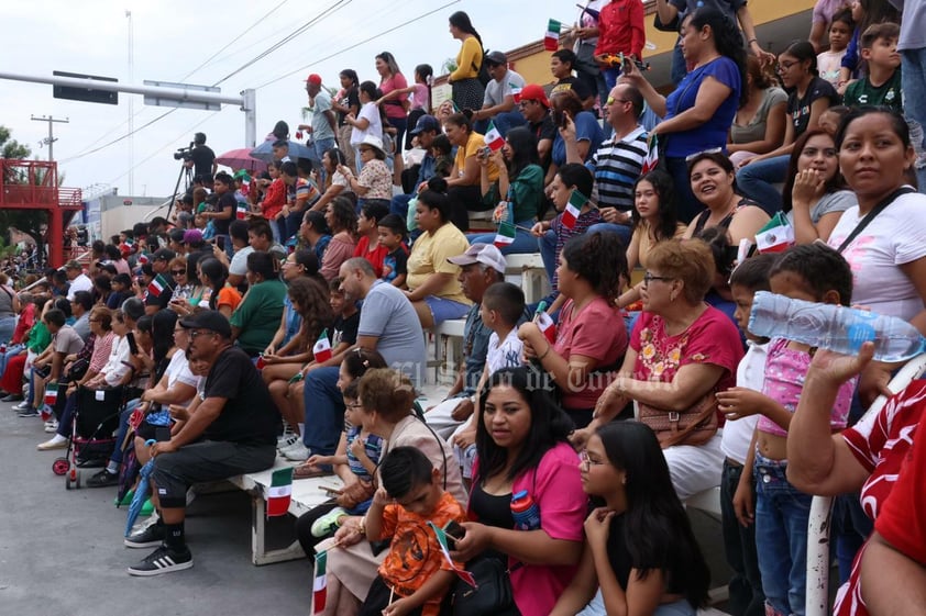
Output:
<svg viewBox="0 0 926 616">
<path fill-rule="evenodd" d="M 251 359 L 232 345 L 228 320 L 217 311 L 202 311 L 180 321 L 180 326 L 189 333 L 189 360 L 206 361 L 211 368 L 196 410 L 176 416 L 186 421 L 183 428 L 151 446 L 152 502 L 159 519 L 124 542 L 130 548 L 158 547 L 130 567 L 130 575 L 192 567 L 184 537 L 190 485 L 258 472 L 276 459 L 279 412 Z"/>
</svg>

